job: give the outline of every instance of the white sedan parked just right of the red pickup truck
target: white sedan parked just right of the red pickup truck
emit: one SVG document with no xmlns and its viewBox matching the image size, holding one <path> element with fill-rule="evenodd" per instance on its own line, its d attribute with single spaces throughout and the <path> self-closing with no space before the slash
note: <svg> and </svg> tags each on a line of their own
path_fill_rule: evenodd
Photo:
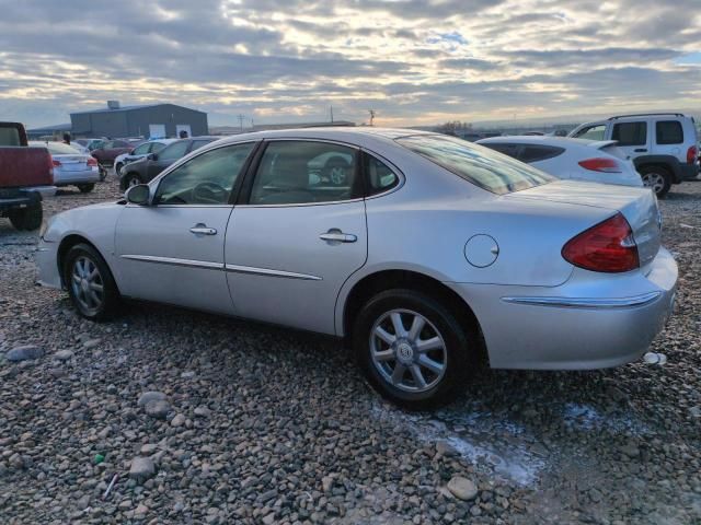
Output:
<svg viewBox="0 0 701 525">
<path fill-rule="evenodd" d="M 30 145 L 48 149 L 54 164 L 55 186 L 77 186 L 81 194 L 88 194 L 100 182 L 97 161 L 93 156 L 82 154 L 62 142 L 30 142 Z"/>
</svg>

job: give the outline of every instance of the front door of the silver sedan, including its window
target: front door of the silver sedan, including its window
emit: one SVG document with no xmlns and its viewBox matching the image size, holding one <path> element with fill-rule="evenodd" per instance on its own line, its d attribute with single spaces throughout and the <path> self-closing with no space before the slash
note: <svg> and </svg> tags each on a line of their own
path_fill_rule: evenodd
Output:
<svg viewBox="0 0 701 525">
<path fill-rule="evenodd" d="M 154 182 L 150 206 L 125 206 L 115 232 L 123 294 L 233 313 L 223 245 L 231 196 L 253 147 L 205 151 Z"/>
</svg>

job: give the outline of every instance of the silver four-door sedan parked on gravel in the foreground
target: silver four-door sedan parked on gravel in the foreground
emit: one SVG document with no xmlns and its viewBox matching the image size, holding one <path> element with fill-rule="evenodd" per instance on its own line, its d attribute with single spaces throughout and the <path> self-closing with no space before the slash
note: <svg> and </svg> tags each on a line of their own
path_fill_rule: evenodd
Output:
<svg viewBox="0 0 701 525">
<path fill-rule="evenodd" d="M 352 159 L 345 185 L 314 176 L 324 155 Z M 441 135 L 312 128 L 219 140 L 125 200 L 54 215 L 37 262 L 88 319 L 134 298 L 347 337 L 372 384 L 417 408 L 483 359 L 637 359 L 675 298 L 659 224 L 645 188 Z"/>
</svg>

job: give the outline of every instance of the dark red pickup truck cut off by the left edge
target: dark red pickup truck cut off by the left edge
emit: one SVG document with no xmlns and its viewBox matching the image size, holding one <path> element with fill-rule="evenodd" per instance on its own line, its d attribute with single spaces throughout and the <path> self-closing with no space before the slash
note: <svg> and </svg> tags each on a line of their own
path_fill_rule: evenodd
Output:
<svg viewBox="0 0 701 525">
<path fill-rule="evenodd" d="M 42 198 L 54 194 L 48 150 L 28 147 L 21 124 L 0 122 L 0 217 L 18 230 L 36 230 L 42 225 Z"/>
</svg>

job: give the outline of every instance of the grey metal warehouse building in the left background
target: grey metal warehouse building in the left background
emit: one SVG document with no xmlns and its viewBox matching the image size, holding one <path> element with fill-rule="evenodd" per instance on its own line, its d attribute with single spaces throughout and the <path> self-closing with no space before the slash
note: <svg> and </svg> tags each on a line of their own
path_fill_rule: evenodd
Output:
<svg viewBox="0 0 701 525">
<path fill-rule="evenodd" d="M 208 135 L 207 114 L 175 104 L 120 106 L 108 101 L 107 107 L 70 114 L 73 137 L 177 137 L 181 130 L 189 137 Z"/>
</svg>

